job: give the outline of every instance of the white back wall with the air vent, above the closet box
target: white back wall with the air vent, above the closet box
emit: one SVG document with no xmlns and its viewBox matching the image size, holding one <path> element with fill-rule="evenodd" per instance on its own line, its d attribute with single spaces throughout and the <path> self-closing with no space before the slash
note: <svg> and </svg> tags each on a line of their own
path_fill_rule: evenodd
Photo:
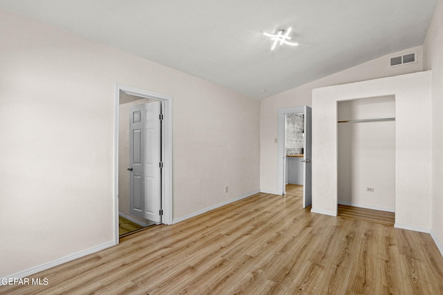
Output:
<svg viewBox="0 0 443 295">
<path fill-rule="evenodd" d="M 388 66 L 390 56 L 410 52 L 417 52 L 417 63 L 395 67 Z M 343 70 L 340 73 L 263 99 L 260 106 L 260 189 L 262 191 L 273 191 L 274 193 L 279 191 L 277 180 L 278 149 L 275 143 L 278 108 L 311 106 L 311 92 L 314 88 L 419 72 L 423 70 L 422 61 L 422 46 L 418 46 L 368 61 L 354 68 Z"/>
</svg>

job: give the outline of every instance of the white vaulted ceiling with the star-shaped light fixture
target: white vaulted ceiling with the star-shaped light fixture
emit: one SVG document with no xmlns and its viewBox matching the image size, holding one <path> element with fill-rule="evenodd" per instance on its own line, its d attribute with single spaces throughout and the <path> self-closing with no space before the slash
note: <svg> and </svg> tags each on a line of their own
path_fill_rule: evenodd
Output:
<svg viewBox="0 0 443 295">
<path fill-rule="evenodd" d="M 423 44 L 437 0 L 0 0 L 0 8 L 261 99 Z M 291 27 L 271 51 L 263 32 Z M 265 93 L 260 92 L 266 90 Z"/>
</svg>

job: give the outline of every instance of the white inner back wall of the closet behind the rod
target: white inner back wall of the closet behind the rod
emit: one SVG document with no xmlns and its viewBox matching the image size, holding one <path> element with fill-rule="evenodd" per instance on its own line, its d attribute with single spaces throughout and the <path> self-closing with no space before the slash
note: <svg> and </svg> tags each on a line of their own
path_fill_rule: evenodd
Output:
<svg viewBox="0 0 443 295">
<path fill-rule="evenodd" d="M 338 121 L 395 117 L 395 97 L 338 102 L 337 111 Z M 337 144 L 338 204 L 395 211 L 395 121 L 339 123 Z"/>
</svg>

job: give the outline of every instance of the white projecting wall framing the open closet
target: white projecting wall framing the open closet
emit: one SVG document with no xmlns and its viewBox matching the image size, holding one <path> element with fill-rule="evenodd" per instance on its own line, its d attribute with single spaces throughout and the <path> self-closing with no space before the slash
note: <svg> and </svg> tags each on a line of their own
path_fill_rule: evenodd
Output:
<svg viewBox="0 0 443 295">
<path fill-rule="evenodd" d="M 431 72 L 312 92 L 312 209 L 337 211 L 337 102 L 395 95 L 395 224 L 431 229 Z M 415 120 L 411 120 L 415 117 Z M 419 155 L 419 157 L 413 157 Z"/>
</svg>

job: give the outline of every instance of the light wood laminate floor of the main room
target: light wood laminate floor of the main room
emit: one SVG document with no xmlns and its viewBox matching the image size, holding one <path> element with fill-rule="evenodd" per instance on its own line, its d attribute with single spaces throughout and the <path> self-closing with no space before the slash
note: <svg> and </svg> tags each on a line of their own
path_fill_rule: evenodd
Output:
<svg viewBox="0 0 443 295">
<path fill-rule="evenodd" d="M 311 213 L 297 190 L 138 232 L 0 294 L 443 294 L 429 234 Z"/>
</svg>

